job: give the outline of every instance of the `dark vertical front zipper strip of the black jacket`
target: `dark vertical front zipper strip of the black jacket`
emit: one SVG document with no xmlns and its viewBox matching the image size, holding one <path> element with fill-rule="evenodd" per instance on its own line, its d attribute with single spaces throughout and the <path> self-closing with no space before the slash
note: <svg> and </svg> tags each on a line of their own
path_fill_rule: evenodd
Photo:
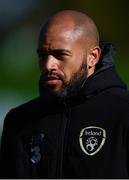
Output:
<svg viewBox="0 0 129 180">
<path fill-rule="evenodd" d="M 63 178 L 63 159 L 66 147 L 66 140 L 68 134 L 68 127 L 70 122 L 70 107 L 64 101 L 63 103 L 64 110 L 61 113 L 61 122 L 58 134 L 58 154 L 57 154 L 57 166 L 56 166 L 56 177 Z"/>
</svg>

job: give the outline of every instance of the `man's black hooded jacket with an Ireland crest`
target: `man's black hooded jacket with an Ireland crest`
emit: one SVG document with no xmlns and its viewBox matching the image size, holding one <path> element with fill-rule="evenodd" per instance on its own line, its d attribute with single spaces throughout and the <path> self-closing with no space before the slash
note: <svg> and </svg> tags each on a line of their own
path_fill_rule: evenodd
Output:
<svg viewBox="0 0 129 180">
<path fill-rule="evenodd" d="M 42 96 L 11 110 L 1 143 L 2 178 L 129 178 L 129 93 L 111 44 L 69 98 Z"/>
</svg>

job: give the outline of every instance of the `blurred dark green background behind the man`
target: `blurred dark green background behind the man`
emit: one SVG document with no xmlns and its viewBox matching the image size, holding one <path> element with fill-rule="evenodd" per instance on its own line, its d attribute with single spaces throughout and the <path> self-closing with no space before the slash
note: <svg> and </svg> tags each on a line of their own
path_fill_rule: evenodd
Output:
<svg viewBox="0 0 129 180">
<path fill-rule="evenodd" d="M 42 22 L 62 9 L 88 13 L 101 40 L 116 48 L 116 68 L 129 87 L 129 1 L 0 0 L 0 134 L 7 112 L 38 96 L 37 38 Z"/>
</svg>

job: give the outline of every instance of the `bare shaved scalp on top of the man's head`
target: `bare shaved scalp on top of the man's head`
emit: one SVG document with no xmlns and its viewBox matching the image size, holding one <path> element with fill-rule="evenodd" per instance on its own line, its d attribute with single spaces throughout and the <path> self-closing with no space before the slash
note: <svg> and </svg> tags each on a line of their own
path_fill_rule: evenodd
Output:
<svg viewBox="0 0 129 180">
<path fill-rule="evenodd" d="M 82 12 L 74 10 L 57 12 L 43 24 L 39 39 L 42 39 L 41 36 L 51 28 L 70 29 L 74 36 L 81 36 L 90 47 L 99 44 L 99 33 L 94 21 Z"/>
</svg>

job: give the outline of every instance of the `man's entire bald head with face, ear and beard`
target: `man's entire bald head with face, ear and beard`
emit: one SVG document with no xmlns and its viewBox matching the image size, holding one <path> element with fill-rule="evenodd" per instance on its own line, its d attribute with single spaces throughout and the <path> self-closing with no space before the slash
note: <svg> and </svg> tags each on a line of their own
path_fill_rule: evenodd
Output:
<svg viewBox="0 0 129 180">
<path fill-rule="evenodd" d="M 38 55 L 46 92 L 68 96 L 94 73 L 99 35 L 93 20 L 78 11 L 60 11 L 42 26 Z M 73 93 L 72 93 L 73 94 Z"/>
</svg>

